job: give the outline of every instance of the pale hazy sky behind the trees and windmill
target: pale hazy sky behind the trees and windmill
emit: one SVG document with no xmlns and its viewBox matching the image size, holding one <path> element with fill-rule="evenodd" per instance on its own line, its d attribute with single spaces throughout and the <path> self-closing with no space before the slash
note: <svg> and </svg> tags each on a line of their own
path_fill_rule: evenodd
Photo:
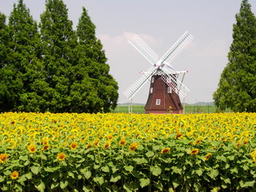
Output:
<svg viewBox="0 0 256 192">
<path fill-rule="evenodd" d="M 0 0 L 0 11 L 10 15 L 18 0 Z M 44 0 L 23 0 L 34 20 L 40 21 Z M 63 0 L 69 9 L 74 29 L 86 7 L 96 26 L 97 37 L 110 65 L 110 74 L 119 86 L 119 103 L 130 102 L 123 92 L 147 70 L 150 63 L 128 40 L 138 34 L 162 57 L 187 30 L 194 41 L 172 64 L 176 70 L 189 70 L 184 84 L 190 89 L 185 102 L 212 102 L 227 54 L 233 41 L 235 14 L 242 0 Z M 256 14 L 256 1 L 249 0 Z M 146 103 L 149 82 L 136 94 L 133 102 Z"/>
</svg>

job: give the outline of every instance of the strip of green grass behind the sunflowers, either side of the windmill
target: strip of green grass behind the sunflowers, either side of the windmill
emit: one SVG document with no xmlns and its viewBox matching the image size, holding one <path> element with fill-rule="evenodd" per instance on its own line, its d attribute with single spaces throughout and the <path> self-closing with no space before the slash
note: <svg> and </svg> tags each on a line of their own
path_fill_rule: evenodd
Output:
<svg viewBox="0 0 256 192">
<path fill-rule="evenodd" d="M 183 106 L 184 107 L 184 106 Z M 118 105 L 115 110 L 111 111 L 112 113 L 134 113 L 134 114 L 144 114 L 144 105 Z M 183 114 L 212 114 L 220 112 L 216 106 L 194 106 L 188 105 L 185 106 Z M 231 110 L 227 109 L 224 112 L 230 113 Z"/>
</svg>

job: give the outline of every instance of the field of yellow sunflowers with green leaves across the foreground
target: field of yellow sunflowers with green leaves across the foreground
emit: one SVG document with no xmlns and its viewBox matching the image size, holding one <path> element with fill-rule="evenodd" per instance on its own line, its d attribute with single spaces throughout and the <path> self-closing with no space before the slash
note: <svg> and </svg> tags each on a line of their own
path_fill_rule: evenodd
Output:
<svg viewBox="0 0 256 192">
<path fill-rule="evenodd" d="M 256 191 L 256 114 L 0 114 L 0 191 Z"/>
</svg>

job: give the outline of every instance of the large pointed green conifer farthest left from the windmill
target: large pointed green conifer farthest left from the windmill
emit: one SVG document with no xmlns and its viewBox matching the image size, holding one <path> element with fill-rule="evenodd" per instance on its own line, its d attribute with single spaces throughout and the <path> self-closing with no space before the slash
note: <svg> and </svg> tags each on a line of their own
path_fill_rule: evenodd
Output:
<svg viewBox="0 0 256 192">
<path fill-rule="evenodd" d="M 40 39 L 37 23 L 22 0 L 14 4 L 4 34 L 7 51 L 2 54 L 4 63 L 0 72 L 1 110 L 39 110 L 38 97 L 31 87 L 37 78 L 42 78 L 42 65 L 38 61 Z"/>
</svg>

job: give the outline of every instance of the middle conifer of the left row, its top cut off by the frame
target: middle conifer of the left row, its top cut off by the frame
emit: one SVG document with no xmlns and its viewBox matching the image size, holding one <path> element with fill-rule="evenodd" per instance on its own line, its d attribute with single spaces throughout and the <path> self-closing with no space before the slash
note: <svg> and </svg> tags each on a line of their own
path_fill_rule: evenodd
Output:
<svg viewBox="0 0 256 192">
<path fill-rule="evenodd" d="M 70 87 L 76 75 L 77 36 L 62 0 L 46 0 L 40 30 L 47 83 L 42 91 L 46 93 L 47 109 L 51 112 L 72 112 Z"/>
</svg>

